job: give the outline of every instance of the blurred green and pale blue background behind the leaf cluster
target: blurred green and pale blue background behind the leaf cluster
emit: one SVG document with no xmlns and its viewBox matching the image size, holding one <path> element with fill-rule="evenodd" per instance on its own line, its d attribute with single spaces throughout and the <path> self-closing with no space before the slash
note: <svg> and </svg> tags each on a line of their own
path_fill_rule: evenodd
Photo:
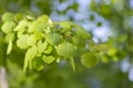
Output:
<svg viewBox="0 0 133 88">
<path fill-rule="evenodd" d="M 8 11 L 73 21 L 91 32 L 95 43 L 111 38 L 116 48 L 90 69 L 76 62 L 74 73 L 62 62 L 24 75 L 23 53 L 4 55 L 0 41 L 0 65 L 7 68 L 9 88 L 133 88 L 133 0 L 0 0 L 0 15 Z"/>
</svg>

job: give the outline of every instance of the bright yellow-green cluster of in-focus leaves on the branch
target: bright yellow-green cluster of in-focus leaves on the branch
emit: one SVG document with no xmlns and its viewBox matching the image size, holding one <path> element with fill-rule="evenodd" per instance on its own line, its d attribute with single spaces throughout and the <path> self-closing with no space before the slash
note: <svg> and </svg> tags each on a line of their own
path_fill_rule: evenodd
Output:
<svg viewBox="0 0 133 88">
<path fill-rule="evenodd" d="M 14 46 L 25 50 L 24 72 L 28 67 L 40 70 L 45 65 L 62 59 L 70 59 L 69 62 L 75 70 L 75 56 L 82 56 L 81 62 L 86 67 L 96 64 L 98 58 L 94 56 L 96 52 L 94 55 L 91 53 L 103 46 L 99 45 L 94 48 L 92 45 L 93 51 L 88 48 L 90 47 L 89 41 L 93 42 L 92 37 L 78 24 L 69 21 L 52 22 L 48 15 L 41 15 L 38 19 L 30 15 L 23 15 L 19 19 L 17 15 L 6 12 L 2 15 L 1 31 L 4 33 L 6 43 L 8 43 L 8 55 Z M 82 45 L 80 45 L 81 38 Z"/>
</svg>

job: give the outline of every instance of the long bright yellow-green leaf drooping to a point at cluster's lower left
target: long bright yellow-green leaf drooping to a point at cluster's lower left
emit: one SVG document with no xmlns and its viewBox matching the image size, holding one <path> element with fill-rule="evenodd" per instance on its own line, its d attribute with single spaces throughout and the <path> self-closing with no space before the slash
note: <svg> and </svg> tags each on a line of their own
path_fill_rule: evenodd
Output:
<svg viewBox="0 0 133 88">
<path fill-rule="evenodd" d="M 24 57 L 24 66 L 23 66 L 23 72 L 27 70 L 28 65 L 31 64 L 32 59 L 37 56 L 37 46 L 33 45 L 32 47 L 30 47 L 27 53 L 25 53 L 25 57 Z M 32 66 L 32 65 L 30 65 Z M 32 67 L 31 67 L 32 68 Z"/>
</svg>

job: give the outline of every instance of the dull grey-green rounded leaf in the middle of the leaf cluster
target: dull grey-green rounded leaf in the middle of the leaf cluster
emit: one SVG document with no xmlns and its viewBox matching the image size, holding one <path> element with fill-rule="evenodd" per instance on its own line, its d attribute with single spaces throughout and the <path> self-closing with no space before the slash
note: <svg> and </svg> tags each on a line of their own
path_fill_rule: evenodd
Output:
<svg viewBox="0 0 133 88">
<path fill-rule="evenodd" d="M 52 45 L 58 45 L 63 42 L 63 37 L 59 33 L 49 33 L 47 34 L 45 40 Z"/>
</svg>

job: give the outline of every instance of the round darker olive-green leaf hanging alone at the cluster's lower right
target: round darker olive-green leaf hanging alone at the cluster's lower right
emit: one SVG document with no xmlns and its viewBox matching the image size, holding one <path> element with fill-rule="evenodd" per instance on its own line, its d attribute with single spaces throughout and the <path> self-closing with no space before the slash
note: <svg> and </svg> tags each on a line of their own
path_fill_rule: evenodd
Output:
<svg viewBox="0 0 133 88">
<path fill-rule="evenodd" d="M 92 53 L 85 53 L 81 56 L 81 63 L 82 63 L 83 66 L 90 68 L 90 67 L 96 65 L 98 58 Z"/>
</svg>

